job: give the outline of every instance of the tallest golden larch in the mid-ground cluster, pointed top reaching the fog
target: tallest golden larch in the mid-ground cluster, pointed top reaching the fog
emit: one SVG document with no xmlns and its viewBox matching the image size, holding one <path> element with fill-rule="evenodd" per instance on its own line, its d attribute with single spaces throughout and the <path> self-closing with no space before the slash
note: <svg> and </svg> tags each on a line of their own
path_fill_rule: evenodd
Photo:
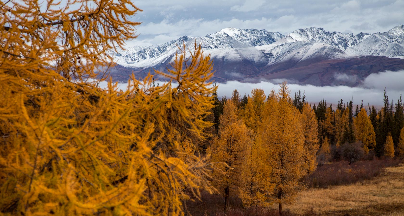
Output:
<svg viewBox="0 0 404 216">
<path fill-rule="evenodd" d="M 280 214 L 282 204 L 292 203 L 297 192 L 303 189 L 299 180 L 306 173 L 304 126 L 289 94 L 286 83 L 282 83 L 272 105 L 273 112 L 264 113 L 259 127 L 260 139 L 267 146 L 268 165 L 272 167 L 270 181 L 275 187 L 271 197 L 278 203 Z"/>
</svg>

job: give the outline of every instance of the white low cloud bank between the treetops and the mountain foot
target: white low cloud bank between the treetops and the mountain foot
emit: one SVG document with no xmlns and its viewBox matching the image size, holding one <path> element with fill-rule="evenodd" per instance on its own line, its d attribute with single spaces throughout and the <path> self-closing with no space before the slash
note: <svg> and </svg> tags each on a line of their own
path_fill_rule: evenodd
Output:
<svg viewBox="0 0 404 216">
<path fill-rule="evenodd" d="M 238 81 L 228 81 L 226 83 L 218 84 L 219 97 L 226 96 L 231 97 L 231 93 L 234 89 L 240 92 L 240 96 L 244 96 L 244 93 L 251 95 L 251 90 L 255 88 L 261 88 L 268 95 L 271 89 L 278 91 L 279 83 L 282 83 L 282 79 L 276 79 L 271 81 L 261 81 L 259 83 L 240 83 Z M 299 85 L 293 81 L 288 82 L 291 90 L 291 97 L 293 98 L 295 92 L 305 91 L 307 102 L 313 105 L 318 104 L 320 100 L 326 100 L 328 104 L 337 105 L 338 101 L 349 102 L 353 98 L 353 104 L 360 104 L 363 100 L 363 104 L 367 106 L 383 106 L 383 91 L 386 87 L 389 100 L 393 99 L 396 103 L 400 94 L 404 94 L 404 71 L 386 71 L 381 73 L 374 73 L 364 79 L 362 84 L 358 87 L 348 87 L 344 85 L 339 86 L 314 86 L 314 85 Z M 107 82 L 100 83 L 102 88 L 107 87 Z M 125 90 L 127 83 L 118 83 L 118 88 Z"/>
</svg>

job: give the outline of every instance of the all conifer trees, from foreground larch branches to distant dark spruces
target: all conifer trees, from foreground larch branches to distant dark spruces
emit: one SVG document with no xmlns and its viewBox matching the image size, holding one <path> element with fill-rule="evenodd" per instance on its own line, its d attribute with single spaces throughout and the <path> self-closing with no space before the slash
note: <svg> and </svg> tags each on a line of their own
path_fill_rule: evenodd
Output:
<svg viewBox="0 0 404 216">
<path fill-rule="evenodd" d="M 404 103 L 388 86 L 383 107 L 310 104 L 286 82 L 220 97 L 195 42 L 122 90 L 103 73 L 114 65 L 105 51 L 137 37 L 141 9 L 44 2 L 0 2 L 1 215 L 332 215 L 292 207 L 309 189 L 401 168 Z M 332 166 L 371 176 L 324 183 Z M 213 213 L 201 207 L 210 199 Z"/>
</svg>

